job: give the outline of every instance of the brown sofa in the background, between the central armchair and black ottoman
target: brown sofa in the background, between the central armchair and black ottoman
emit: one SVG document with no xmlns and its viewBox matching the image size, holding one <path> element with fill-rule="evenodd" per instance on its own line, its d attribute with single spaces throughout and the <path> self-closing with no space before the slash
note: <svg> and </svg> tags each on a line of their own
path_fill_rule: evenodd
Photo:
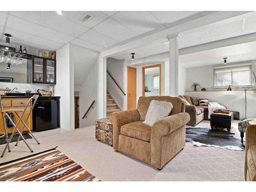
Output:
<svg viewBox="0 0 256 192">
<path fill-rule="evenodd" d="M 197 98 L 188 95 L 180 95 L 179 97 L 185 99 L 190 104 L 185 107 L 185 112 L 190 116 L 188 125 L 196 126 L 202 120 L 208 119 L 208 105 L 199 105 L 199 101 L 196 101 Z"/>
</svg>

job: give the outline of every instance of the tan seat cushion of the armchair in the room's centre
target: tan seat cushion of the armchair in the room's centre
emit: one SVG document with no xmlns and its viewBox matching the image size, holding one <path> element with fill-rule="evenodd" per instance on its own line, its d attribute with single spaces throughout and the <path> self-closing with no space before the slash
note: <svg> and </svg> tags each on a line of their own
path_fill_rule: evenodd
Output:
<svg viewBox="0 0 256 192">
<path fill-rule="evenodd" d="M 150 141 L 151 126 L 142 121 L 132 122 L 121 126 L 121 135 L 133 137 L 143 141 Z"/>
</svg>

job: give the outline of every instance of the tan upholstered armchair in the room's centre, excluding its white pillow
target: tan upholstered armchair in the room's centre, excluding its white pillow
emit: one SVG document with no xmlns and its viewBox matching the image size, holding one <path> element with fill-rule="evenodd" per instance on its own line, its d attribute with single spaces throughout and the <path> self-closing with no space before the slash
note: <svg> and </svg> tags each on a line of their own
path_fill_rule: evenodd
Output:
<svg viewBox="0 0 256 192">
<path fill-rule="evenodd" d="M 152 100 L 168 101 L 173 109 L 168 117 L 152 127 L 142 123 Z M 161 169 L 185 146 L 185 126 L 189 121 L 185 104 L 178 97 L 140 97 L 136 110 L 115 112 L 113 123 L 113 148 Z"/>
</svg>

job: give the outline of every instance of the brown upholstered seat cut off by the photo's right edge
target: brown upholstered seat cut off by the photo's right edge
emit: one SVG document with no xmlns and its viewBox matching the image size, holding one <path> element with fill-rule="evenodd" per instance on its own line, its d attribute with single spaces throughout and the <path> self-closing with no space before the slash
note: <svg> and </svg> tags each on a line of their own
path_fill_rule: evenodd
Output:
<svg viewBox="0 0 256 192">
<path fill-rule="evenodd" d="M 256 181 L 256 125 L 247 126 L 245 138 L 245 180 Z"/>
</svg>

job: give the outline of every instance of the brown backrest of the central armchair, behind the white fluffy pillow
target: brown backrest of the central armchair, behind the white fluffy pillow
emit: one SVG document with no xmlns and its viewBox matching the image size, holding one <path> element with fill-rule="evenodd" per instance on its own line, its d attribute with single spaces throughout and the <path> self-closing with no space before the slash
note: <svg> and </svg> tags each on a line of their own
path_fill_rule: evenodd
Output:
<svg viewBox="0 0 256 192">
<path fill-rule="evenodd" d="M 177 113 L 181 113 L 184 107 L 184 103 L 181 101 L 179 97 L 170 97 L 170 96 L 150 96 L 150 97 L 139 97 L 137 110 L 140 113 L 140 120 L 144 121 L 146 112 L 148 107 L 150 106 L 150 102 L 152 100 L 157 101 L 167 101 L 173 104 L 173 110 L 169 115 L 174 115 Z M 185 109 L 185 108 L 184 108 Z"/>
</svg>

